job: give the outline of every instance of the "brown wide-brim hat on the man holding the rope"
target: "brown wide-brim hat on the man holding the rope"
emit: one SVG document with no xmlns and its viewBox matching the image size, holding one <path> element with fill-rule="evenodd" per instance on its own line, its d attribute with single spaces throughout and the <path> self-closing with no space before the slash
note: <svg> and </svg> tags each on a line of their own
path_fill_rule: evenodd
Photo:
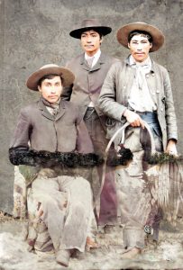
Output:
<svg viewBox="0 0 183 270">
<path fill-rule="evenodd" d="M 130 23 L 126 24 L 123 27 L 121 27 L 117 31 L 117 40 L 126 48 L 128 48 L 128 36 L 132 31 L 147 31 L 150 33 L 151 38 L 152 38 L 152 48 L 150 49 L 151 51 L 155 51 L 160 49 L 160 47 L 163 45 L 165 37 L 157 27 L 148 24 L 148 23 L 142 23 L 142 22 L 137 22 L 137 23 Z"/>
</svg>

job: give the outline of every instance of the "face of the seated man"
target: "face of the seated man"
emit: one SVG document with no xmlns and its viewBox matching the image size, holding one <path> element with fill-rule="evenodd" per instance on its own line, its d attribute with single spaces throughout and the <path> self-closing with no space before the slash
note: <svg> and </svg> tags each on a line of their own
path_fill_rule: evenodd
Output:
<svg viewBox="0 0 183 270">
<path fill-rule="evenodd" d="M 62 88 L 60 76 L 46 78 L 41 82 L 41 85 L 38 85 L 42 97 L 50 103 L 56 103 L 59 100 Z"/>
</svg>

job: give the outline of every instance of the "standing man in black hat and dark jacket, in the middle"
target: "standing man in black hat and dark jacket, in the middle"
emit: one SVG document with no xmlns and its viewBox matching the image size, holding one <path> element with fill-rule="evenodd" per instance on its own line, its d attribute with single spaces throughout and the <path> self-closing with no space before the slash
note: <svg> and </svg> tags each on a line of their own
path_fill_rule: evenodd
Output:
<svg viewBox="0 0 183 270">
<path fill-rule="evenodd" d="M 100 46 L 104 36 L 111 31 L 110 27 L 103 26 L 96 19 L 84 20 L 78 29 L 70 31 L 71 37 L 80 40 L 84 53 L 72 58 L 67 64 L 76 77 L 74 83 L 65 87 L 62 94 L 63 99 L 70 100 L 80 107 L 94 150 L 102 156 L 108 140 L 105 139 L 106 118 L 98 108 L 97 100 L 106 73 L 117 59 L 103 54 Z M 114 223 L 117 215 L 114 174 L 109 167 L 106 171 L 105 184 L 100 197 L 99 225 Z M 91 170 L 90 173 L 92 174 Z M 101 183 L 102 166 L 97 167 L 97 174 Z M 91 178 L 94 176 L 90 175 L 87 178 L 93 182 Z"/>
</svg>

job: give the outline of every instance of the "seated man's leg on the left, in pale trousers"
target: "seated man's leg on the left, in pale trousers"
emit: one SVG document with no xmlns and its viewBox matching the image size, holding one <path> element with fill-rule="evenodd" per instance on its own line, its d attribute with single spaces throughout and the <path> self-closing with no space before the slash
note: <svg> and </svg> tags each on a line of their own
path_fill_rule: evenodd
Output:
<svg viewBox="0 0 183 270">
<path fill-rule="evenodd" d="M 39 220 L 45 223 L 57 250 L 66 215 L 67 193 L 59 191 L 57 178 L 38 177 L 32 183 L 32 197 L 39 202 L 36 220 L 38 224 Z"/>
</svg>

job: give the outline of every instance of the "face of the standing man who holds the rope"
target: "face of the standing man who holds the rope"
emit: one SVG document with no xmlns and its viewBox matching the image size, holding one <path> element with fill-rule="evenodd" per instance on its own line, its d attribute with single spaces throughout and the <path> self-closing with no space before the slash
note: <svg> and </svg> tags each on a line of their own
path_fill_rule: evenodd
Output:
<svg viewBox="0 0 183 270">
<path fill-rule="evenodd" d="M 128 43 L 128 48 L 137 62 L 143 62 L 148 58 L 151 47 L 150 41 L 141 34 L 133 36 L 130 43 Z"/>
</svg>

